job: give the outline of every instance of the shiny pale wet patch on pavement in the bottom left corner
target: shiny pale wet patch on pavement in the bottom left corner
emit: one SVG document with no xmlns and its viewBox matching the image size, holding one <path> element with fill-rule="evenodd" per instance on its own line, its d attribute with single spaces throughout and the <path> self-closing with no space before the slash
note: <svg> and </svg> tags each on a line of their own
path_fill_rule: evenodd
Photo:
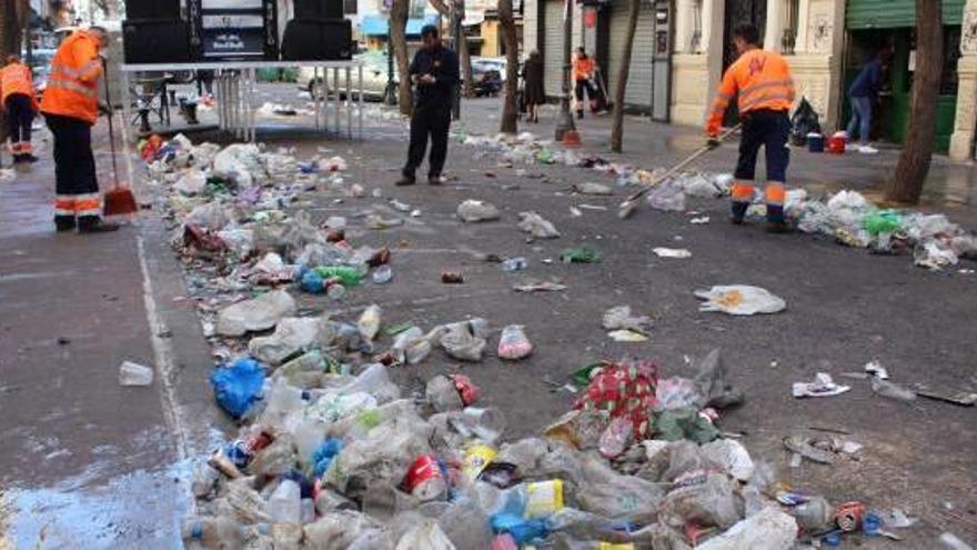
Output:
<svg viewBox="0 0 977 550">
<path fill-rule="evenodd" d="M 0 489 L 0 549 L 179 549 L 190 509 L 189 463 L 104 483 Z"/>
</svg>

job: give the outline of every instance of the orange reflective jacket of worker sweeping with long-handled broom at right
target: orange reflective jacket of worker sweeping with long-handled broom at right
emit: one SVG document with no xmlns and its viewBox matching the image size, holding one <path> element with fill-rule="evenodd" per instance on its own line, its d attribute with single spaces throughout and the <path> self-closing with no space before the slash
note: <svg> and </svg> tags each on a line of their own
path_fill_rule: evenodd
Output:
<svg viewBox="0 0 977 550">
<path fill-rule="evenodd" d="M 726 74 L 713 101 L 706 133 L 715 136 L 723 123 L 723 113 L 734 96 L 739 94 L 739 113 L 757 109 L 786 111 L 794 104 L 794 79 L 787 60 L 772 51 L 749 50 L 736 60 Z"/>
</svg>

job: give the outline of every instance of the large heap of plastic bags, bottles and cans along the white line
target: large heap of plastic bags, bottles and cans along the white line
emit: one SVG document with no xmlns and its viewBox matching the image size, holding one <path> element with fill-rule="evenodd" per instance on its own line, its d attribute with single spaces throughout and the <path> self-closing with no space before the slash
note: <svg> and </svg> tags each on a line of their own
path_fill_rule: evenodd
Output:
<svg viewBox="0 0 977 550">
<path fill-rule="evenodd" d="M 503 411 L 483 407 L 464 376 L 406 393 L 390 369 L 437 349 L 481 360 L 492 333 L 484 319 L 390 326 L 376 306 L 348 320 L 298 313 L 290 292 L 338 298 L 391 261 L 351 244 L 341 220 L 320 228 L 286 211 L 303 190 L 355 196 L 342 159 L 182 137 L 147 147 L 204 332 L 222 346 L 214 398 L 238 422 L 194 466 L 189 546 L 775 550 L 843 532 L 897 537 L 864 504 L 778 483 L 722 432 L 722 411 L 744 397 L 718 350 L 694 378 L 646 361 L 590 366 L 574 376 L 572 410 L 521 440 L 506 439 Z M 610 324 L 634 324 L 620 312 Z M 520 360 L 533 347 L 511 326 L 497 350 Z"/>
</svg>

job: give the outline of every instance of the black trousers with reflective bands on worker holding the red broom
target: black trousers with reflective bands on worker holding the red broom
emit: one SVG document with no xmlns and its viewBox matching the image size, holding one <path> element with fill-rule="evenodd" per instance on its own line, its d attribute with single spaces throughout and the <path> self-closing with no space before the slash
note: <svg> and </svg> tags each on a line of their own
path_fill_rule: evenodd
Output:
<svg viewBox="0 0 977 550">
<path fill-rule="evenodd" d="M 54 220 L 79 217 L 79 223 L 101 216 L 101 197 L 91 149 L 91 126 L 79 119 L 44 114 L 54 134 Z M 88 220 L 87 220 L 88 219 Z"/>
</svg>

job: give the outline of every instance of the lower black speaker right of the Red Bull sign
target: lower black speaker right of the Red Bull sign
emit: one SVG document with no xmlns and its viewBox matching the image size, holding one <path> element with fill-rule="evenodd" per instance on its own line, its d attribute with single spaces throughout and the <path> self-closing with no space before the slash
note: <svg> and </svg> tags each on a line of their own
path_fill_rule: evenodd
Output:
<svg viewBox="0 0 977 550">
<path fill-rule="evenodd" d="M 349 19 L 293 19 L 285 26 L 285 61 L 342 61 L 353 58 L 353 24 Z"/>
</svg>

